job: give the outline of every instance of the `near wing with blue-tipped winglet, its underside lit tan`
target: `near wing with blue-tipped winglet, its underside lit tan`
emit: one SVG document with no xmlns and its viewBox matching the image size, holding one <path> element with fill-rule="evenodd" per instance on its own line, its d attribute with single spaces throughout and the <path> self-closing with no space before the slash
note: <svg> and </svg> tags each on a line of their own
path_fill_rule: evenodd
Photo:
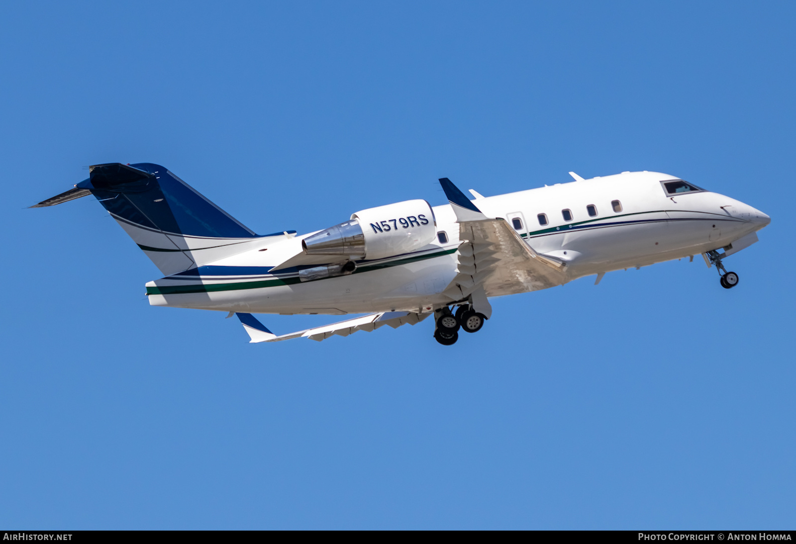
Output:
<svg viewBox="0 0 796 544">
<path fill-rule="evenodd" d="M 472 296 L 478 306 L 476 298 L 525 293 L 569 281 L 566 263 L 533 251 L 507 221 L 484 216 L 447 178 L 440 184 L 458 217 L 462 240 L 458 274 L 443 291 L 451 301 Z M 489 309 L 488 303 L 482 306 Z"/>
</svg>

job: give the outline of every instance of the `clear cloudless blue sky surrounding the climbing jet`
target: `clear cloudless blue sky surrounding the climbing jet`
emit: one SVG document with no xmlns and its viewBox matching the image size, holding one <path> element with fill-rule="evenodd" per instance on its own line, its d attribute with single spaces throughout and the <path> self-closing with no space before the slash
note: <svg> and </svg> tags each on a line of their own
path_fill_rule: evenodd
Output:
<svg viewBox="0 0 796 544">
<path fill-rule="evenodd" d="M 0 526 L 794 526 L 790 2 L 5 2 Z M 155 162 L 260 233 L 438 177 L 671 173 L 772 222 L 728 258 L 432 325 L 248 344 L 151 308 L 92 198 Z M 275 332 L 330 317 L 263 316 Z"/>
</svg>

